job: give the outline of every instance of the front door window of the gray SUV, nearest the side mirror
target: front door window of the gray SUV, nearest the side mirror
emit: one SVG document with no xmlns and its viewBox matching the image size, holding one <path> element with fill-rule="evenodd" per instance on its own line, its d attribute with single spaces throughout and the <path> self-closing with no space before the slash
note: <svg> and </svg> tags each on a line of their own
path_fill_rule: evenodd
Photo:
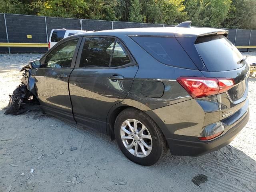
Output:
<svg viewBox="0 0 256 192">
<path fill-rule="evenodd" d="M 71 67 L 74 51 L 78 39 L 73 39 L 60 44 L 46 56 L 45 67 Z"/>
</svg>

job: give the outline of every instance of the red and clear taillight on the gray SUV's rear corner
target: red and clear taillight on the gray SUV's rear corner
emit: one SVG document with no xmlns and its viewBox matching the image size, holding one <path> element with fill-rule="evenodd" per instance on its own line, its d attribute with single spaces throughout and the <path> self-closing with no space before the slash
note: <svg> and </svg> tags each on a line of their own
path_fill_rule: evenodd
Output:
<svg viewBox="0 0 256 192">
<path fill-rule="evenodd" d="M 177 81 L 193 98 L 223 93 L 234 86 L 231 78 L 179 77 Z"/>
</svg>

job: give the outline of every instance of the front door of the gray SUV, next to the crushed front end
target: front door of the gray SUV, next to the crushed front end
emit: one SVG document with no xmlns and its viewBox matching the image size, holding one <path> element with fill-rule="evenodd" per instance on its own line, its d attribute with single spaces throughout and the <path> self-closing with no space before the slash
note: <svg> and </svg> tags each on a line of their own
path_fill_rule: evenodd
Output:
<svg viewBox="0 0 256 192">
<path fill-rule="evenodd" d="M 74 120 L 68 90 L 81 38 L 63 42 L 42 58 L 43 67 L 36 72 L 36 88 L 45 112 Z"/>
</svg>

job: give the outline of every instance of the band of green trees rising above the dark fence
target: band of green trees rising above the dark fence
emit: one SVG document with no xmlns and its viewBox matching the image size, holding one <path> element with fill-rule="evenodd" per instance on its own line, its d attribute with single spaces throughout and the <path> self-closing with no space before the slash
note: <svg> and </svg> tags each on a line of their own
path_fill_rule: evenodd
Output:
<svg viewBox="0 0 256 192">
<path fill-rule="evenodd" d="M 256 0 L 0 0 L 0 12 L 256 29 Z"/>
</svg>

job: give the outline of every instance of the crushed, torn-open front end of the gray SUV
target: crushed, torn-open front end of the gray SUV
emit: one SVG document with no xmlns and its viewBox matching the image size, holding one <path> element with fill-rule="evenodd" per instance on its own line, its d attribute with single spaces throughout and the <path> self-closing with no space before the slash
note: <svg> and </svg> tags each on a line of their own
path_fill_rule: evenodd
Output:
<svg viewBox="0 0 256 192">
<path fill-rule="evenodd" d="M 29 62 L 26 66 L 22 67 L 21 84 L 14 90 L 10 96 L 8 109 L 4 114 L 18 115 L 27 111 L 26 104 L 39 104 L 36 98 L 36 91 L 34 89 L 35 80 L 32 77 L 36 72 L 36 68 L 32 65 L 34 61 Z"/>
</svg>

